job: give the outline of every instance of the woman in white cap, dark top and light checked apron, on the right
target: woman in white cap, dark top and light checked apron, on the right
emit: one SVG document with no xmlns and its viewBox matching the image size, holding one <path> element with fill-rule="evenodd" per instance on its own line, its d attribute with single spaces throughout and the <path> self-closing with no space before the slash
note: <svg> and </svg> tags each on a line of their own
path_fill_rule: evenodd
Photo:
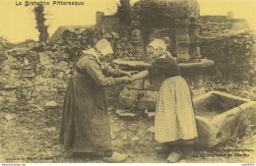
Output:
<svg viewBox="0 0 256 166">
<path fill-rule="evenodd" d="M 148 71 L 138 74 L 136 79 L 163 77 L 157 97 L 155 138 L 162 145 L 158 151 L 171 150 L 167 161 L 177 162 L 182 157 L 181 147 L 193 144 L 197 128 L 188 84 L 181 77 L 180 69 L 173 57 L 166 52 L 166 45 L 155 39 L 147 46 L 147 53 L 154 61 Z"/>
</svg>

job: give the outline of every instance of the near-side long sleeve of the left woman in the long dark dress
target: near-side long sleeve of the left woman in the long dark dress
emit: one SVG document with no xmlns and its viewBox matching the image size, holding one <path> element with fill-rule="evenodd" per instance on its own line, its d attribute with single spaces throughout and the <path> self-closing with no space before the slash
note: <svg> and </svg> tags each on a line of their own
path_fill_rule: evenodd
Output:
<svg viewBox="0 0 256 166">
<path fill-rule="evenodd" d="M 90 63 L 86 64 L 87 73 L 93 78 L 93 80 L 101 86 L 112 86 L 116 84 L 116 80 L 111 77 L 105 77 L 99 65 L 96 61 L 90 61 Z"/>
</svg>

